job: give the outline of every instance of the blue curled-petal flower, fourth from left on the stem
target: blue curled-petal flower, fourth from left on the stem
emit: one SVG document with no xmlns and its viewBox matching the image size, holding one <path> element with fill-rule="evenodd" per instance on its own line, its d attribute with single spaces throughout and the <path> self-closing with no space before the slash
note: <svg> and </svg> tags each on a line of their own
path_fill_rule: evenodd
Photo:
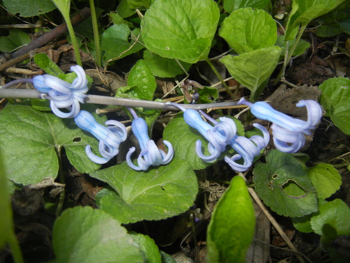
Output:
<svg viewBox="0 0 350 263">
<path fill-rule="evenodd" d="M 204 155 L 201 151 L 201 141 L 197 140 L 195 144 L 195 152 L 198 157 L 206 162 L 215 160 L 221 152 L 226 148 L 226 145 L 234 137 L 236 126 L 233 120 L 227 117 L 220 117 L 220 122 L 216 122 L 215 126 L 211 126 L 205 122 L 196 110 L 185 109 L 179 104 L 167 102 L 176 108 L 183 111 L 184 121 L 192 128 L 196 129 L 209 143 L 208 151 L 210 155 Z"/>
</svg>

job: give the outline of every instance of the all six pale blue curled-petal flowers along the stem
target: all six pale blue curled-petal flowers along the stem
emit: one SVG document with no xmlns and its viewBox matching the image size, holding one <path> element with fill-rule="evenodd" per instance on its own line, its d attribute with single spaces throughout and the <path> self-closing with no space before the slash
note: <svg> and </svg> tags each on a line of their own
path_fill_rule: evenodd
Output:
<svg viewBox="0 0 350 263">
<path fill-rule="evenodd" d="M 98 150 L 102 157 L 93 154 L 89 145 L 85 147 L 85 152 L 93 162 L 106 163 L 118 154 L 119 144 L 126 140 L 126 128 L 123 124 L 114 120 L 106 121 L 105 125 L 107 127 L 105 127 L 96 122 L 87 111 L 80 111 L 79 103 L 84 102 L 87 80 L 84 70 L 80 66 L 72 66 L 70 70 L 77 75 L 71 84 L 50 75 L 36 76 L 32 79 L 32 83 L 39 92 L 50 96 L 50 106 L 54 114 L 61 118 L 74 118 L 79 128 L 89 132 L 99 140 Z M 268 131 L 259 124 L 255 123 L 253 126 L 261 131 L 262 136 L 253 135 L 246 138 L 236 134 L 236 125 L 230 118 L 219 117 L 219 121 L 216 121 L 203 111 L 186 109 L 171 102 L 167 104 L 183 111 L 184 121 L 208 141 L 207 150 L 209 155 L 202 152 L 200 140 L 197 140 L 195 145 L 197 155 L 206 162 L 217 159 L 225 151 L 226 146 L 229 145 L 236 153 L 231 157 L 225 156 L 224 160 L 233 170 L 245 171 L 268 144 Z M 238 104 L 249 106 L 251 113 L 256 118 L 272 122 L 271 129 L 275 147 L 282 152 L 289 153 L 298 151 L 304 145 L 305 134 L 311 134 L 311 130 L 315 128 L 322 115 L 319 104 L 312 100 L 300 100 L 296 104 L 297 107 L 306 107 L 306 121 L 280 113 L 266 102 L 251 103 L 242 98 Z M 62 112 L 59 110 L 61 108 L 66 108 L 69 112 Z M 131 129 L 140 146 L 140 153 L 137 157 L 138 166 L 131 161 L 131 155 L 135 151 L 135 147 L 129 149 L 126 155 L 126 162 L 129 167 L 134 170 L 147 170 L 149 166 L 158 166 L 170 162 L 174 154 L 171 143 L 163 141 L 168 149 L 167 153 L 158 149 L 154 141 L 148 137 L 146 122 L 138 117 L 134 110 L 128 109 L 133 116 Z M 204 121 L 203 118 L 211 124 Z M 239 159 L 242 161 L 240 163 L 236 162 Z"/>
</svg>

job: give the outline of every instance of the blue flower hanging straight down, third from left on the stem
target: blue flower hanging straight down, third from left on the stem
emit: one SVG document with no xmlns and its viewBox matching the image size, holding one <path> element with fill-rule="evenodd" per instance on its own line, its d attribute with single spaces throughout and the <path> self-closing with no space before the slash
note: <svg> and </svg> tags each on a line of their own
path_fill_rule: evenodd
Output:
<svg viewBox="0 0 350 263">
<path fill-rule="evenodd" d="M 129 111 L 134 117 L 131 123 L 132 133 L 135 135 L 139 143 L 141 152 L 137 157 L 138 166 L 136 166 L 130 159 L 132 153 L 135 151 L 135 147 L 131 147 L 126 154 L 127 165 L 136 171 L 145 171 L 151 165 L 157 166 L 170 162 L 174 154 L 171 143 L 165 140 L 163 141 L 168 149 L 167 154 L 165 154 L 164 151 L 159 150 L 154 141 L 150 140 L 148 137 L 146 122 L 142 118 L 138 117 L 132 109 L 129 108 Z"/>
</svg>

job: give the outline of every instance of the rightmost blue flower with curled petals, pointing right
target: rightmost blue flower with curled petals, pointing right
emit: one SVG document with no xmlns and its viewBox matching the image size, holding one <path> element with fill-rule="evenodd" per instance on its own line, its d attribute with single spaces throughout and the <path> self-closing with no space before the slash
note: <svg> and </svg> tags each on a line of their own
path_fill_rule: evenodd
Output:
<svg viewBox="0 0 350 263">
<path fill-rule="evenodd" d="M 248 102 L 241 98 L 238 104 L 250 107 L 251 113 L 259 119 L 272 122 L 271 129 L 274 146 L 282 152 L 296 152 L 305 143 L 305 135 L 310 135 L 311 130 L 322 116 L 319 104 L 313 100 L 300 100 L 296 107 L 306 107 L 307 121 L 292 118 L 284 113 L 276 111 L 266 102 Z"/>
</svg>

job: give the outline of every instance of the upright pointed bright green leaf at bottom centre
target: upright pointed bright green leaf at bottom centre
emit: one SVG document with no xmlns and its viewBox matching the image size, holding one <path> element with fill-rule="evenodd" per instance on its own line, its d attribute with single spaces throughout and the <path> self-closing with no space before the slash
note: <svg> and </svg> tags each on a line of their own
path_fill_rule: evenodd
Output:
<svg viewBox="0 0 350 263">
<path fill-rule="evenodd" d="M 234 176 L 207 228 L 208 262 L 244 262 L 255 228 L 254 208 L 243 178 Z"/>
</svg>

